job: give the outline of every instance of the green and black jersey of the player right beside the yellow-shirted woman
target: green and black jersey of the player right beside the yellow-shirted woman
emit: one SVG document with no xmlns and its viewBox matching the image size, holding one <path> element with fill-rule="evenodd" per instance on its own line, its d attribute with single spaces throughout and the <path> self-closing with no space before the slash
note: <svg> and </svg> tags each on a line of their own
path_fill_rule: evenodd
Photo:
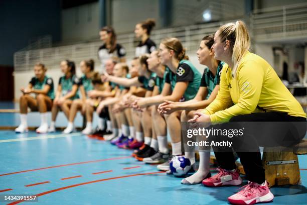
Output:
<svg viewBox="0 0 307 205">
<path fill-rule="evenodd" d="M 201 87 L 207 87 L 207 89 L 208 89 L 208 95 L 207 95 L 206 99 L 209 98 L 209 96 L 211 95 L 215 86 L 220 84 L 223 65 L 224 65 L 223 61 L 221 61 L 218 64 L 215 76 L 213 76 L 213 73 L 209 70 L 209 68 L 205 68 L 200 86 Z"/>
</svg>

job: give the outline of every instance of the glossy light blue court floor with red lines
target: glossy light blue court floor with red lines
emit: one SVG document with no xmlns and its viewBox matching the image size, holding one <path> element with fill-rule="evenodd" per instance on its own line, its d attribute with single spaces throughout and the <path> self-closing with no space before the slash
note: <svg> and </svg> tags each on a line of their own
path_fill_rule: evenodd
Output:
<svg viewBox="0 0 307 205">
<path fill-rule="evenodd" d="M 0 131 L 0 194 L 39 195 L 26 204 L 228 204 L 239 188 L 183 185 L 130 155 L 80 133 Z M 299 156 L 302 184 L 273 187 L 271 204 L 307 204 L 306 162 Z"/>
</svg>

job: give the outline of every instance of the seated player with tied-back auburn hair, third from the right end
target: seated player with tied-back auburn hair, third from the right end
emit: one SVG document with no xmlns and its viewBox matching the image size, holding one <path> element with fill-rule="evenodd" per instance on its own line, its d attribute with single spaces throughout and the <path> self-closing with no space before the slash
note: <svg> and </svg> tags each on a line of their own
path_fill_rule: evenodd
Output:
<svg viewBox="0 0 307 205">
<path fill-rule="evenodd" d="M 167 66 L 168 75 L 161 94 L 139 99 L 137 106 L 140 108 L 151 105 L 158 106 L 165 102 L 165 100 L 186 101 L 193 99 L 200 86 L 201 73 L 188 60 L 185 49 L 177 38 L 164 39 L 160 44 L 159 50 L 161 63 Z M 181 111 L 164 115 L 172 139 L 173 156 L 182 155 L 181 130 L 178 129 L 180 127 L 180 116 Z M 161 140 L 164 139 L 161 138 Z M 158 165 L 158 169 L 169 170 L 170 161 L 171 158 L 165 163 Z"/>
</svg>

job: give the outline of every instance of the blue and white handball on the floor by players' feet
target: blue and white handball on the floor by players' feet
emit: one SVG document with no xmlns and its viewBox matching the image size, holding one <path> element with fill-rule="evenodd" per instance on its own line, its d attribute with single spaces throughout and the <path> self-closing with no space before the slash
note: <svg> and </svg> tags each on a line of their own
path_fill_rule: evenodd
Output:
<svg viewBox="0 0 307 205">
<path fill-rule="evenodd" d="M 185 156 L 175 156 L 170 162 L 170 169 L 175 176 L 184 176 L 191 169 L 191 162 Z"/>
</svg>

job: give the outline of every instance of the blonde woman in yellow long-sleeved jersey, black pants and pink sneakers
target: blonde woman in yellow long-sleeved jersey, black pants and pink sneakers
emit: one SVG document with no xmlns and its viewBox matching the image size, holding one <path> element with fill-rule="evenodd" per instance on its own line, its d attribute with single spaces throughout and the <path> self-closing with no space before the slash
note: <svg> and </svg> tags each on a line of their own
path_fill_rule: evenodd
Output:
<svg viewBox="0 0 307 205">
<path fill-rule="evenodd" d="M 282 84 L 274 69 L 263 58 L 249 52 L 250 39 L 243 22 L 221 26 L 215 33 L 212 48 L 215 58 L 227 63 L 221 74 L 220 90 L 216 99 L 201 113 L 195 113 L 191 122 L 306 122 L 303 109 Z M 301 136 L 290 135 L 287 138 L 291 138 L 292 142 L 299 142 L 305 134 L 305 126 L 299 132 L 302 133 Z M 274 196 L 265 181 L 259 151 L 258 142 L 267 140 L 261 139 L 263 136 L 242 136 L 249 141 L 244 146 L 257 151 L 237 152 L 249 183 L 238 193 L 228 197 L 231 203 L 254 204 L 273 200 Z M 278 137 L 282 141 L 285 136 Z M 234 144 L 238 139 L 232 138 Z M 219 173 L 203 180 L 204 185 L 242 183 L 232 148 L 223 148 L 223 152 L 219 152 L 221 147 L 213 147 L 220 164 Z"/>
</svg>

